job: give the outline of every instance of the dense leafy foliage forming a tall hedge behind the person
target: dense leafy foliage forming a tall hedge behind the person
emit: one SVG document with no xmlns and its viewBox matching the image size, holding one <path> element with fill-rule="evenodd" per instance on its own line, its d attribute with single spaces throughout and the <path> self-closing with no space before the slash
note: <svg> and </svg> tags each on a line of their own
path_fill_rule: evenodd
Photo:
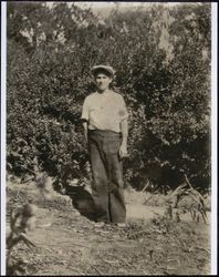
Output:
<svg viewBox="0 0 219 277">
<path fill-rule="evenodd" d="M 146 6 L 146 4 L 144 4 Z M 90 69 L 116 69 L 129 112 L 126 183 L 210 183 L 210 4 L 147 3 L 98 18 L 75 4 L 8 3 L 8 171 L 86 174 L 80 121 Z"/>
</svg>

